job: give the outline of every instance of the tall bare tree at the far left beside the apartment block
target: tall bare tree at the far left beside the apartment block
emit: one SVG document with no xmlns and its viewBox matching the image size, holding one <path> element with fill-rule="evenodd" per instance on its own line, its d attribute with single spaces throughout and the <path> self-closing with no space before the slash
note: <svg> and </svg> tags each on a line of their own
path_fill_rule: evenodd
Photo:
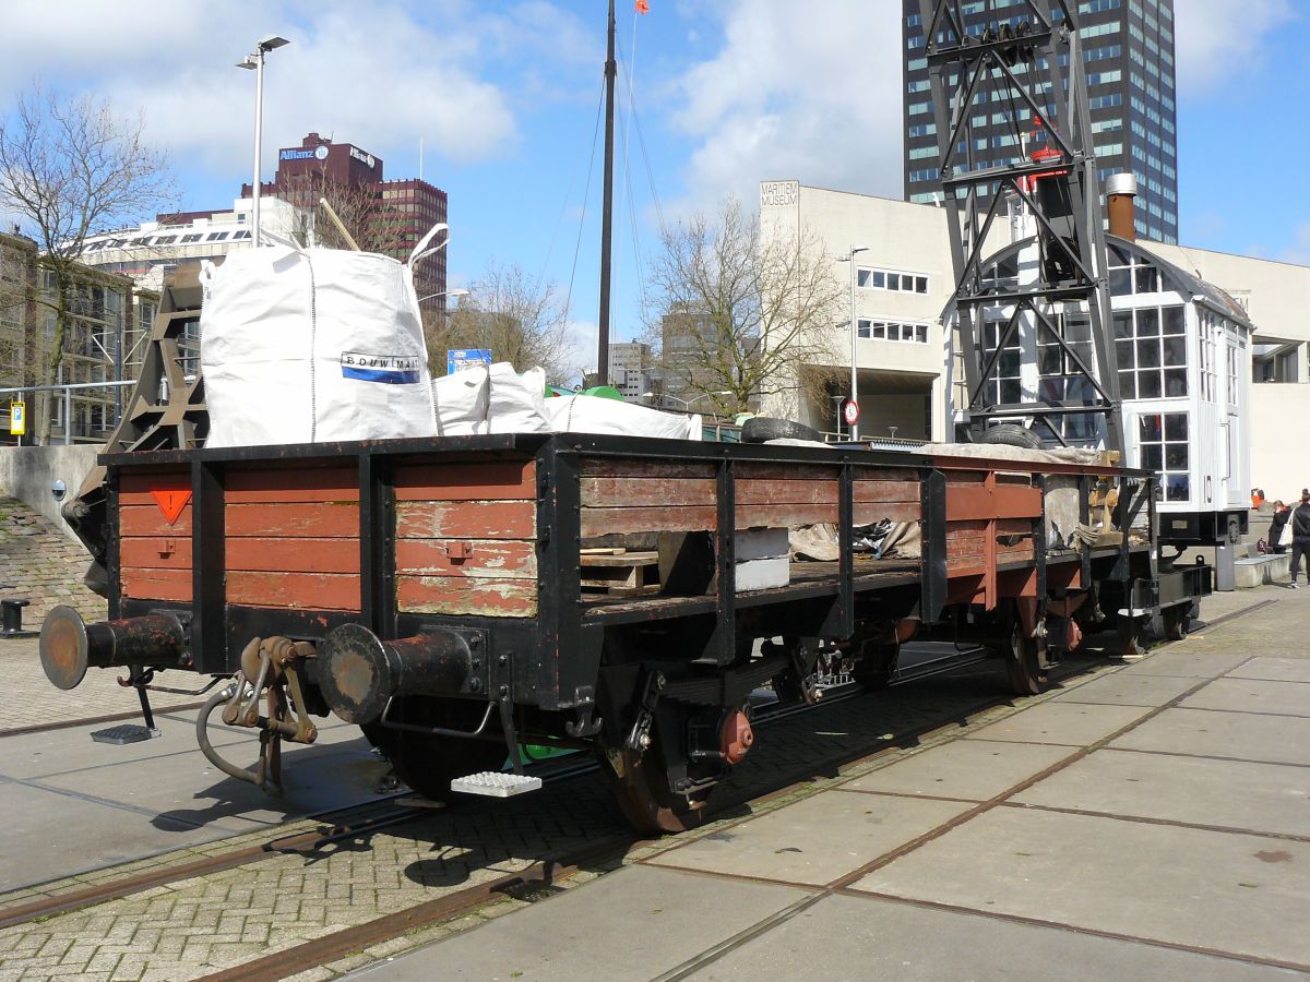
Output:
<svg viewBox="0 0 1310 982">
<path fill-rule="evenodd" d="M 42 354 L 43 385 L 55 381 L 63 361 L 86 236 L 173 199 L 168 161 L 147 145 L 144 128 L 141 118 L 115 115 L 106 100 L 62 96 L 39 84 L 20 93 L 0 126 L 0 207 L 22 220 L 41 249 L 48 289 L 38 289 L 35 300 L 55 313 Z M 38 406 L 41 441 L 48 443 L 48 393 Z"/>
</svg>

